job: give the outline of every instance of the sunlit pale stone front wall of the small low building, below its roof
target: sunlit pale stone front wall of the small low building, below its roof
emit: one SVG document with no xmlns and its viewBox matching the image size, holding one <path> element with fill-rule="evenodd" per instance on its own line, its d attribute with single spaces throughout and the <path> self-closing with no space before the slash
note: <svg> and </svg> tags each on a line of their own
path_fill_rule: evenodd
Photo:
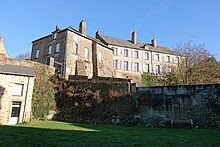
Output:
<svg viewBox="0 0 220 147">
<path fill-rule="evenodd" d="M 22 86 L 21 94 L 16 94 L 16 85 Z M 34 76 L 0 73 L 0 124 L 11 124 L 13 104 L 20 105 L 17 123 L 31 119 L 31 101 L 34 87 Z"/>
</svg>

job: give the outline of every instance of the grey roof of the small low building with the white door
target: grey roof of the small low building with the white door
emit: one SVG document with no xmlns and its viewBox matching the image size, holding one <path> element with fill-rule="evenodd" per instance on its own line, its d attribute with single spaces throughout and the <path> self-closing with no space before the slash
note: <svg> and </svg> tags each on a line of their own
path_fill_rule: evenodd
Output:
<svg viewBox="0 0 220 147">
<path fill-rule="evenodd" d="M 0 74 L 34 77 L 33 67 L 4 64 L 0 65 Z"/>
</svg>

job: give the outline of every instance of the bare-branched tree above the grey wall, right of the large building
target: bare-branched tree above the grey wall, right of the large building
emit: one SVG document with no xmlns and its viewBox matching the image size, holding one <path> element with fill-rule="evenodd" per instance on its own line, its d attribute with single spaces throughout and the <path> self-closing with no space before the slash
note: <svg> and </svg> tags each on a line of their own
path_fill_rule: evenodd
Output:
<svg viewBox="0 0 220 147">
<path fill-rule="evenodd" d="M 220 66 L 215 57 L 204 44 L 193 45 L 192 42 L 178 44 L 176 51 L 182 55 L 178 74 L 183 84 L 210 84 L 220 82 Z"/>
</svg>

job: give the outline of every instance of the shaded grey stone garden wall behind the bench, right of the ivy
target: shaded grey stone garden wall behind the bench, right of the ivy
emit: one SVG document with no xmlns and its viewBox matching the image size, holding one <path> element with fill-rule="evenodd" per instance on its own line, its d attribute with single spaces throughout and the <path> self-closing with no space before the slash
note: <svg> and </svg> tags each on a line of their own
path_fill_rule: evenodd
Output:
<svg viewBox="0 0 220 147">
<path fill-rule="evenodd" d="M 137 87 L 136 97 L 145 125 L 193 119 L 194 126 L 220 127 L 220 84 Z"/>
</svg>

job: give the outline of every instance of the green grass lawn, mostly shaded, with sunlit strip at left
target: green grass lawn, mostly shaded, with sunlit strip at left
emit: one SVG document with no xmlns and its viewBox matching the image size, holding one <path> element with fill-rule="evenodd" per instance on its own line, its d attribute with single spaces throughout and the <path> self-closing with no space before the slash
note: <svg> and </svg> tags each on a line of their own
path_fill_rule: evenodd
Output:
<svg viewBox="0 0 220 147">
<path fill-rule="evenodd" d="M 220 146 L 220 131 L 39 121 L 0 126 L 0 146 Z"/>
</svg>

